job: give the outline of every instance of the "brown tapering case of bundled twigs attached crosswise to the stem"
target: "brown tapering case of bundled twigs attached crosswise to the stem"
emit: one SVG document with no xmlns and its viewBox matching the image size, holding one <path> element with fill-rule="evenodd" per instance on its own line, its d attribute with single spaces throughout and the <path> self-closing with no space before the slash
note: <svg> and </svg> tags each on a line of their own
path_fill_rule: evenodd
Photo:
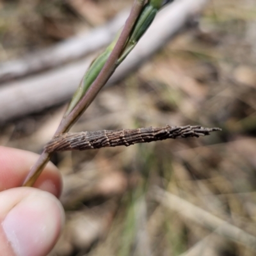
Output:
<svg viewBox="0 0 256 256">
<path fill-rule="evenodd" d="M 204 128 L 200 125 L 147 127 L 138 129 L 121 129 L 115 131 L 68 132 L 52 138 L 45 146 L 47 152 L 65 150 L 87 150 L 93 148 L 116 147 L 145 143 L 157 140 L 199 137 L 220 128 Z"/>
</svg>

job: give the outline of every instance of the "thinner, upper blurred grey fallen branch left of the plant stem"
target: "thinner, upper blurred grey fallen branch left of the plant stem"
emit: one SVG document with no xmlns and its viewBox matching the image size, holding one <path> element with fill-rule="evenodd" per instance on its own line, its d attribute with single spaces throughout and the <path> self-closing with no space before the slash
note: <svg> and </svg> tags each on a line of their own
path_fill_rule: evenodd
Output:
<svg viewBox="0 0 256 256">
<path fill-rule="evenodd" d="M 48 49 L 28 54 L 18 60 L 0 64 L 0 83 L 28 76 L 42 70 L 59 67 L 68 61 L 77 60 L 86 54 L 108 45 L 116 35 L 129 12 L 123 11 L 108 24 L 69 38 Z"/>
</svg>

